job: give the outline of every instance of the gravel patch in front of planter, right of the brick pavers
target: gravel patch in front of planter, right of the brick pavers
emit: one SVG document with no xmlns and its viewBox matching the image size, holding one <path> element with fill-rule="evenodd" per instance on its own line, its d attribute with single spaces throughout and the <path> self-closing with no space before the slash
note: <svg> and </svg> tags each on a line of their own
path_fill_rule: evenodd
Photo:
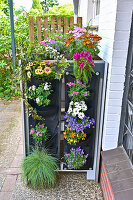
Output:
<svg viewBox="0 0 133 200">
<path fill-rule="evenodd" d="M 99 185 L 86 180 L 86 173 L 60 173 L 55 188 L 33 190 L 18 177 L 11 200 L 103 200 Z"/>
</svg>

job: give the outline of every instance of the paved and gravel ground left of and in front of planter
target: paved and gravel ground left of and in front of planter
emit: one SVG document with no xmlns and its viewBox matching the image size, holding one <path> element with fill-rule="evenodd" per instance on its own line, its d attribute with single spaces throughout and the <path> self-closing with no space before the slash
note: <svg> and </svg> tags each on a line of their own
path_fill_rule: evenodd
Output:
<svg viewBox="0 0 133 200">
<path fill-rule="evenodd" d="M 0 101 L 0 200 L 103 200 L 99 185 L 85 173 L 60 173 L 55 188 L 33 190 L 21 180 L 21 104 Z"/>
</svg>

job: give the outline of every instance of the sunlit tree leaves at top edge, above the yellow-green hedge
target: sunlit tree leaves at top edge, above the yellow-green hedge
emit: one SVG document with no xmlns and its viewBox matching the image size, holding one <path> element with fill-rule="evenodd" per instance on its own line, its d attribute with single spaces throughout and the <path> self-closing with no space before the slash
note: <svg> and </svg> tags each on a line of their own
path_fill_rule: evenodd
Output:
<svg viewBox="0 0 133 200">
<path fill-rule="evenodd" d="M 49 8 L 53 6 L 58 6 L 58 0 L 42 0 L 41 5 L 43 7 L 44 12 L 48 12 Z"/>
</svg>

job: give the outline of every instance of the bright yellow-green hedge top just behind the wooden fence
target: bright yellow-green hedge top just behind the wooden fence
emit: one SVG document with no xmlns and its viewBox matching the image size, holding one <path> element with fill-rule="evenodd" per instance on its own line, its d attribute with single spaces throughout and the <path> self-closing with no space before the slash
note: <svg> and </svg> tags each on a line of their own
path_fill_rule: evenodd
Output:
<svg viewBox="0 0 133 200">
<path fill-rule="evenodd" d="M 65 4 L 62 6 L 53 6 L 49 9 L 48 13 L 45 14 L 46 16 L 67 16 L 73 17 L 74 16 L 74 8 L 72 4 Z"/>
</svg>

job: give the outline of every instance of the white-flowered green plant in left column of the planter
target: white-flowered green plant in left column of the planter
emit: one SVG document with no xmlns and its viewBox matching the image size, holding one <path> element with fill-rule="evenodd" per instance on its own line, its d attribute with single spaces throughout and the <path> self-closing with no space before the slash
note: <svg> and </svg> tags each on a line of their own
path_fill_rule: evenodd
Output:
<svg viewBox="0 0 133 200">
<path fill-rule="evenodd" d="M 38 87 L 32 85 L 26 92 L 26 97 L 34 100 L 38 106 L 47 106 L 50 104 L 48 96 L 53 92 L 51 84 L 48 82 L 40 84 Z"/>
</svg>

